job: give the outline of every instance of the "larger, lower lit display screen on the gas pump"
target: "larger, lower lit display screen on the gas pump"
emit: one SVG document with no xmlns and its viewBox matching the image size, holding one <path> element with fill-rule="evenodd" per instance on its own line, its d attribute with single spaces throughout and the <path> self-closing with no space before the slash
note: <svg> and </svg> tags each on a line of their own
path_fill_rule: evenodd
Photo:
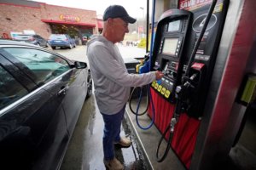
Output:
<svg viewBox="0 0 256 170">
<path fill-rule="evenodd" d="M 177 48 L 178 38 L 165 38 L 162 54 L 174 55 Z"/>
</svg>

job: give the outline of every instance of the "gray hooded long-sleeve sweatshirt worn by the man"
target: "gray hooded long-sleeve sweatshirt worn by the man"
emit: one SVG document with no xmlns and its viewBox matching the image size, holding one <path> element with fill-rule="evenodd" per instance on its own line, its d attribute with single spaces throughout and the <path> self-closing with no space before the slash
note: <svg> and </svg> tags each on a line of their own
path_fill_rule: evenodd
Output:
<svg viewBox="0 0 256 170">
<path fill-rule="evenodd" d="M 118 47 L 102 35 L 93 36 L 87 45 L 96 103 L 102 113 L 113 115 L 119 112 L 129 99 L 131 87 L 154 81 L 154 71 L 129 74 Z"/>
</svg>

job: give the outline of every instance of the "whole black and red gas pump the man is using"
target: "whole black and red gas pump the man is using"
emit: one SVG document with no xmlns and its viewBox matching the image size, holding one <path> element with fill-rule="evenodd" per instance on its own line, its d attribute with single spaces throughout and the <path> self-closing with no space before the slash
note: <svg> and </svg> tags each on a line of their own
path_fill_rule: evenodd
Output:
<svg viewBox="0 0 256 170">
<path fill-rule="evenodd" d="M 180 3 L 180 8 L 187 10 L 170 9 L 160 17 L 151 70 L 163 71 L 165 77 L 153 82 L 150 89 L 153 103 L 158 104 L 154 108 L 159 112 L 154 123 L 162 133 L 156 153 L 158 161 L 163 161 L 172 148 L 189 168 L 228 3 L 213 0 L 190 4 L 190 8 Z M 151 105 L 148 110 L 151 116 Z M 163 139 L 168 144 L 160 157 Z"/>
</svg>

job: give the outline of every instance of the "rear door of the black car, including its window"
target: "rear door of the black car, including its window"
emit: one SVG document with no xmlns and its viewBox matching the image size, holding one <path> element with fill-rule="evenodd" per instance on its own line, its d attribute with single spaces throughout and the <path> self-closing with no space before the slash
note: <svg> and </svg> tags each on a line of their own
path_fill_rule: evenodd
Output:
<svg viewBox="0 0 256 170">
<path fill-rule="evenodd" d="M 33 155 L 35 146 L 30 142 L 31 129 L 24 126 L 26 111 L 21 107 L 22 100 L 26 100 L 27 95 L 32 90 L 25 86 L 29 83 L 20 82 L 19 78 L 24 75 L 15 74 L 13 76 L 6 70 L 6 67 L 12 66 L 8 60 L 0 55 L 0 165 L 1 169 L 15 169 L 15 163 L 20 167 L 29 168 L 30 159 Z M 5 68 L 4 68 L 4 67 Z M 12 71 L 18 71 L 12 66 Z M 18 77 L 16 79 L 15 77 Z M 20 105 L 20 110 L 18 109 Z M 25 104 L 26 105 L 26 104 Z M 24 105 L 23 105 L 24 108 Z"/>
</svg>

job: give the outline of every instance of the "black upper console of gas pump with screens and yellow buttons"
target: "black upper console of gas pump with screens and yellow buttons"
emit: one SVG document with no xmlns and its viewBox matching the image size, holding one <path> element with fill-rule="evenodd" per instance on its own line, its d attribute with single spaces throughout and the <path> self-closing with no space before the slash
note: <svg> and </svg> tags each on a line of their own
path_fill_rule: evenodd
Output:
<svg viewBox="0 0 256 170">
<path fill-rule="evenodd" d="M 162 71 L 165 76 L 159 82 L 153 82 L 155 92 L 170 103 L 175 103 L 175 89 L 184 73 L 183 49 L 188 44 L 188 30 L 191 13 L 185 10 L 171 9 L 162 14 L 154 40 L 152 70 Z M 156 45 L 158 44 L 158 45 Z"/>
</svg>

